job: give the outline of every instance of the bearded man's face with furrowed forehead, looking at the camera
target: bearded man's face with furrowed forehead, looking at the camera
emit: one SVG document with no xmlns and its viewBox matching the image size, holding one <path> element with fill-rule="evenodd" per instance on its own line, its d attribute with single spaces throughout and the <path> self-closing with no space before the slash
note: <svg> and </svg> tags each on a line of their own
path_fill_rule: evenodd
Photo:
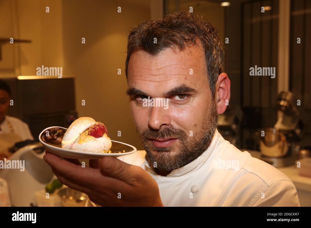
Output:
<svg viewBox="0 0 311 228">
<path fill-rule="evenodd" d="M 160 170 L 192 162 L 211 143 L 217 111 L 205 67 L 204 51 L 197 45 L 183 51 L 167 48 L 157 56 L 141 50 L 131 55 L 132 116 L 149 161 Z M 148 96 L 168 99 L 168 108 L 143 105 Z"/>
</svg>

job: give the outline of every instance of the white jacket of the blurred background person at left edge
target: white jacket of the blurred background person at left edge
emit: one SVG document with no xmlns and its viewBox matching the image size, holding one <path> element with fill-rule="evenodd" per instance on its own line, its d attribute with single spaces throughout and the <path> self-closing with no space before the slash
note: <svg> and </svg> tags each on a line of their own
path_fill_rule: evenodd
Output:
<svg viewBox="0 0 311 228">
<path fill-rule="evenodd" d="M 12 126 L 14 127 L 14 132 L 21 137 L 22 141 L 25 141 L 27 139 L 34 140 L 27 123 L 12 116 L 5 116 L 3 122 L 0 124 L 0 137 L 1 134 L 11 133 L 11 129 L 8 126 L 9 123 L 12 124 Z"/>
</svg>

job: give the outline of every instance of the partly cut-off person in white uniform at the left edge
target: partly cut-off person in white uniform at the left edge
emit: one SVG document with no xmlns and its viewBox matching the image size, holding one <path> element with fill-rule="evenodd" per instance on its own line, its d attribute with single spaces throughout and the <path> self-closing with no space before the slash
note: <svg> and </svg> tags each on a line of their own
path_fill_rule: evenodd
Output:
<svg viewBox="0 0 311 228">
<path fill-rule="evenodd" d="M 8 151 L 15 143 L 27 139 L 34 140 L 26 123 L 18 118 L 8 116 L 10 107 L 11 89 L 0 79 L 0 160 L 9 158 Z"/>
</svg>

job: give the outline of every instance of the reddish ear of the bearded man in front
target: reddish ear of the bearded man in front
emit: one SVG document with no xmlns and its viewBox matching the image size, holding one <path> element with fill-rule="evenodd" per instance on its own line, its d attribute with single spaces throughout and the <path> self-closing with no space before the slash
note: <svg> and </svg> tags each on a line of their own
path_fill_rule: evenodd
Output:
<svg viewBox="0 0 311 228">
<path fill-rule="evenodd" d="M 224 113 L 230 100 L 230 80 L 226 73 L 221 73 L 216 81 L 217 113 Z"/>
</svg>

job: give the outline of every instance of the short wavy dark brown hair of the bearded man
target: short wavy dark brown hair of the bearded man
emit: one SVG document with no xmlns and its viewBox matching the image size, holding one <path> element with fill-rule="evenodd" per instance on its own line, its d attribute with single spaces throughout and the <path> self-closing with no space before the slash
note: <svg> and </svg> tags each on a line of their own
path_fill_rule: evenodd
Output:
<svg viewBox="0 0 311 228">
<path fill-rule="evenodd" d="M 157 38 L 156 44 L 153 43 L 154 38 Z M 183 50 L 193 43 L 204 48 L 210 90 L 215 95 L 215 83 L 223 69 L 224 46 L 216 27 L 203 20 L 202 16 L 189 11 L 179 11 L 156 20 L 146 20 L 132 28 L 128 35 L 126 78 L 128 79 L 128 62 L 133 51 L 143 50 L 156 56 L 168 47 Z"/>
</svg>

